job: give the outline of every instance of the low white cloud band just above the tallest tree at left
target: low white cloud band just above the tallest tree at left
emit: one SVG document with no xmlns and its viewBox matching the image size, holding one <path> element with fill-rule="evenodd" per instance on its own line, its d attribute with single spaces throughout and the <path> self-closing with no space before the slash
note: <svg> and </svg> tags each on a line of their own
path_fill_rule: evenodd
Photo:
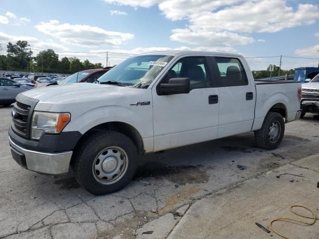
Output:
<svg viewBox="0 0 319 239">
<path fill-rule="evenodd" d="M 68 48 L 62 46 L 61 44 L 58 44 L 54 42 L 53 40 L 46 40 L 46 41 L 41 41 L 38 38 L 35 37 L 30 37 L 30 36 L 13 36 L 13 35 L 8 35 L 4 32 L 0 32 L 0 45 L 6 46 L 8 42 L 15 43 L 18 40 L 25 40 L 27 41 L 30 45 L 31 48 L 40 48 L 40 49 L 46 49 L 46 48 L 51 48 L 55 49 L 57 51 L 66 51 Z"/>
</svg>

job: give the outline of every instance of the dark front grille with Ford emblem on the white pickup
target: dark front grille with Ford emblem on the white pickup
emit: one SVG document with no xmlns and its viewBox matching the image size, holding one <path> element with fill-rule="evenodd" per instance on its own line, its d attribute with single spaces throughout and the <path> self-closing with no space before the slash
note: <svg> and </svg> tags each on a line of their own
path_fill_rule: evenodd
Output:
<svg viewBox="0 0 319 239">
<path fill-rule="evenodd" d="M 26 136 L 30 106 L 16 102 L 13 105 L 14 114 L 12 115 L 13 129 L 21 135 Z"/>
</svg>

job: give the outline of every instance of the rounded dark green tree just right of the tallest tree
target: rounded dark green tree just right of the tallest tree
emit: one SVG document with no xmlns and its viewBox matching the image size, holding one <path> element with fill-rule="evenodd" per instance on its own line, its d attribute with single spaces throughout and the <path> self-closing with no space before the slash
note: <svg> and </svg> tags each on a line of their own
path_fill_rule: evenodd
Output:
<svg viewBox="0 0 319 239">
<path fill-rule="evenodd" d="M 42 70 L 42 64 L 44 72 L 56 72 L 59 70 L 59 55 L 52 49 L 40 51 L 34 60 L 38 71 Z"/>
</svg>

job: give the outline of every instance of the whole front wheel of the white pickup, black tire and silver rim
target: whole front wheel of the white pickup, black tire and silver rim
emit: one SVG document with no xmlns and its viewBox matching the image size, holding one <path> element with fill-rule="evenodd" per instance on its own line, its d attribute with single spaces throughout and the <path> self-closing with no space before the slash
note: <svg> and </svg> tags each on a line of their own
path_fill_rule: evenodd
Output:
<svg viewBox="0 0 319 239">
<path fill-rule="evenodd" d="M 137 158 L 137 147 L 128 136 L 116 131 L 93 133 L 75 153 L 75 178 L 92 194 L 116 192 L 132 180 Z"/>
</svg>

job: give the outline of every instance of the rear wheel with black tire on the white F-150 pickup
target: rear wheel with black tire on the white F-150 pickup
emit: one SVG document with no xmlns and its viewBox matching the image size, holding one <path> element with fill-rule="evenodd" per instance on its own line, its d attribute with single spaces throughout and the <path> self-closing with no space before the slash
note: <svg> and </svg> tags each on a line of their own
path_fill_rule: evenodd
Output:
<svg viewBox="0 0 319 239">
<path fill-rule="evenodd" d="M 283 140 L 284 133 L 285 121 L 282 115 L 268 112 L 261 129 L 255 131 L 255 142 L 260 148 L 275 149 Z"/>
</svg>

